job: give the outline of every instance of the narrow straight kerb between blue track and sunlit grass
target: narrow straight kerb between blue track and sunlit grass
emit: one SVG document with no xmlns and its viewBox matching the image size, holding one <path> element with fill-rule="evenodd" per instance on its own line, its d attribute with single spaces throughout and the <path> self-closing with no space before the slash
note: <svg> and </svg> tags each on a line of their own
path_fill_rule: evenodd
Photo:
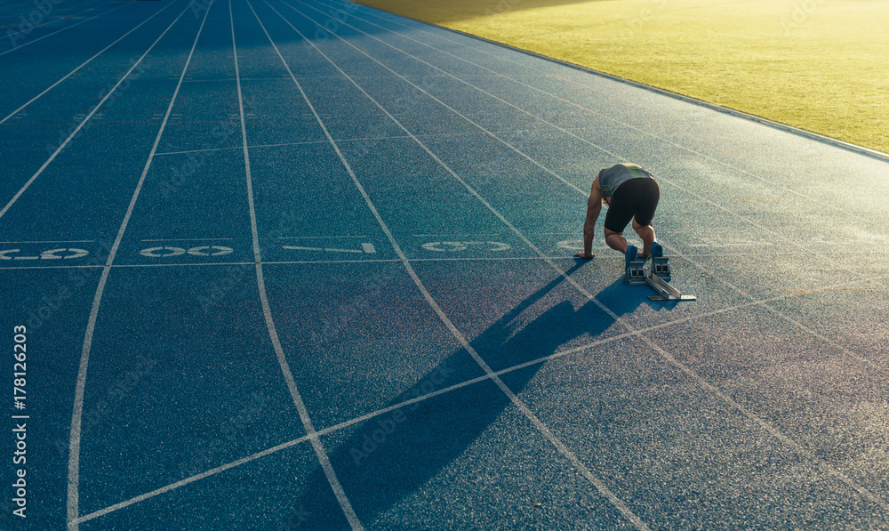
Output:
<svg viewBox="0 0 889 531">
<path fill-rule="evenodd" d="M 350 0 L 347 0 L 347 1 L 349 1 L 349 4 L 357 4 L 356 2 L 351 2 Z M 523 50 L 522 48 L 517 48 L 516 46 L 511 46 L 509 44 L 499 43 L 497 41 L 487 39 L 483 36 L 472 35 L 471 33 L 467 33 L 465 31 L 461 31 L 459 29 L 452 29 L 452 28 L 445 28 L 444 26 L 437 26 L 436 24 L 432 24 L 431 22 L 427 22 L 426 20 L 415 19 L 413 17 L 408 17 L 408 16 L 405 16 L 400 13 L 386 11 L 385 9 L 380 9 L 379 7 L 372 7 L 370 5 L 364 5 L 364 4 L 357 4 L 357 5 L 364 7 L 366 9 L 373 9 L 373 10 L 377 10 L 380 12 L 387 12 L 391 15 L 395 15 L 396 17 L 401 17 L 403 19 L 413 20 L 414 22 L 419 22 L 420 24 L 423 24 L 425 26 L 429 26 L 432 28 L 438 28 L 438 29 L 444 29 L 445 31 L 450 31 L 450 32 L 456 33 L 458 35 L 468 36 L 470 38 L 476 39 L 477 41 L 481 41 L 481 42 L 487 43 L 487 44 L 495 44 L 497 46 L 500 46 L 501 48 L 506 48 L 508 50 L 512 50 L 513 52 L 520 52 L 520 53 L 524 53 L 525 55 L 531 55 L 533 57 L 537 57 L 542 60 L 548 60 L 549 62 L 554 62 L 554 63 L 560 64 L 562 66 L 565 66 L 565 67 L 573 68 L 575 70 L 581 70 L 582 72 L 587 72 L 587 73 L 592 74 L 594 76 L 605 77 L 607 79 L 611 79 L 613 81 L 617 81 L 617 82 L 620 82 L 623 84 L 629 84 L 631 86 L 645 89 L 645 90 L 651 91 L 653 93 L 663 94 L 665 96 L 669 96 L 670 98 L 674 98 L 676 100 L 687 101 L 689 103 L 693 103 L 694 105 L 700 105 L 701 107 L 706 107 L 708 109 L 717 110 L 719 112 L 729 114 L 734 117 L 740 117 L 745 120 L 750 120 L 752 122 L 757 122 L 759 124 L 768 125 L 768 126 L 773 127 L 775 129 L 780 129 L 781 131 L 787 131 L 789 133 L 794 133 L 794 134 L 797 134 L 799 136 L 804 136 L 805 138 L 808 138 L 808 139 L 811 139 L 814 141 L 820 141 L 825 144 L 830 144 L 832 146 L 836 146 L 837 148 L 846 149 L 846 150 L 858 153 L 860 155 L 866 155 L 868 157 L 877 158 L 877 159 L 882 160 L 884 162 L 889 162 L 889 154 L 883 153 L 882 151 L 877 151 L 876 149 L 864 148 L 861 146 L 857 146 L 855 144 L 850 144 L 849 142 L 839 141 L 837 139 L 830 138 L 829 136 L 824 136 L 822 134 L 805 131 L 805 129 L 798 129 L 797 127 L 794 127 L 792 125 L 781 124 L 780 122 L 773 122 L 772 120 L 768 120 L 768 119 L 765 119 L 762 117 L 757 117 L 755 115 L 741 112 L 740 110 L 728 109 L 725 107 L 720 107 L 720 106 L 713 104 L 713 103 L 708 103 L 707 101 L 695 100 L 694 98 L 691 98 L 689 96 L 684 96 L 682 94 L 677 94 L 677 93 L 671 93 L 667 90 L 660 89 L 660 88 L 657 88 L 657 87 L 654 87 L 654 86 L 651 86 L 648 84 L 641 84 L 636 81 L 630 81 L 629 79 L 624 79 L 623 77 L 613 76 L 611 74 L 605 74 L 605 72 L 600 72 L 600 71 L 595 70 L 593 68 L 583 67 L 581 65 L 577 65 L 577 64 L 574 64 L 573 62 L 568 62 L 566 60 L 555 59 L 555 58 L 549 57 L 547 55 L 542 55 L 541 53 L 531 52 L 529 50 Z"/>
</svg>

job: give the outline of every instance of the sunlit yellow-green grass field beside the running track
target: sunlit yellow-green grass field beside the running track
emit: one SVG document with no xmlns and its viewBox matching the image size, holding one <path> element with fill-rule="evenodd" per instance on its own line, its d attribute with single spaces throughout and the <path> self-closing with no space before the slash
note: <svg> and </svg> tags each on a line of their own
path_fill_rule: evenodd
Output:
<svg viewBox="0 0 889 531">
<path fill-rule="evenodd" d="M 359 0 L 889 153 L 884 0 Z"/>
</svg>

